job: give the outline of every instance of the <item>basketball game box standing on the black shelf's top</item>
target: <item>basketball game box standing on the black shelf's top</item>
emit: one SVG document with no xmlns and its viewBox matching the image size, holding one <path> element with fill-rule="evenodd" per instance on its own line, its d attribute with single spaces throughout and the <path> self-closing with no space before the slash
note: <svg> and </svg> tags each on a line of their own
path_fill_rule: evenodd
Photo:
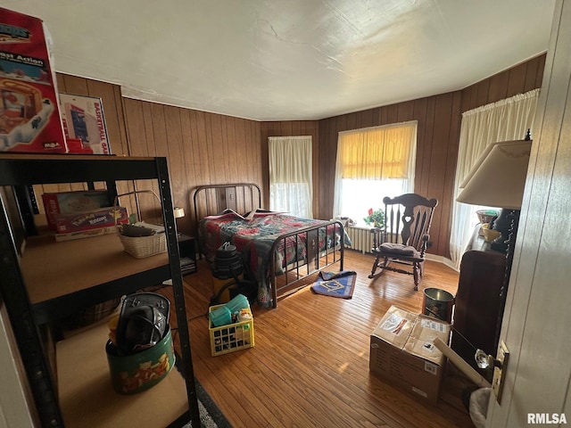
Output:
<svg viewBox="0 0 571 428">
<path fill-rule="evenodd" d="M 60 94 L 60 105 L 70 153 L 111 154 L 101 98 Z"/>
</svg>

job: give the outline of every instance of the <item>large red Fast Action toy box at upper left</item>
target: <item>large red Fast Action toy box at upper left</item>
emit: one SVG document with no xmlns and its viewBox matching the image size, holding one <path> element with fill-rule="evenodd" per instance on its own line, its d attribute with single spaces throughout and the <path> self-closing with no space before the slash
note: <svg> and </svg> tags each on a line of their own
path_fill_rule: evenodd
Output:
<svg viewBox="0 0 571 428">
<path fill-rule="evenodd" d="M 0 152 L 67 146 L 43 21 L 0 8 Z"/>
</svg>

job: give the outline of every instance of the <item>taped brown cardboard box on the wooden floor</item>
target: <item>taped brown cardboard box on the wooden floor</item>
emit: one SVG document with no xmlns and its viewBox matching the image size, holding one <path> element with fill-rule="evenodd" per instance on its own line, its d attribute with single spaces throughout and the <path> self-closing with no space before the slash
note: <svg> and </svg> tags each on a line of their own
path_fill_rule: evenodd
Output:
<svg viewBox="0 0 571 428">
<path fill-rule="evenodd" d="M 439 337 L 448 343 L 450 329 L 440 319 L 392 306 L 371 333 L 369 369 L 436 404 L 445 358 L 433 341 Z"/>
</svg>

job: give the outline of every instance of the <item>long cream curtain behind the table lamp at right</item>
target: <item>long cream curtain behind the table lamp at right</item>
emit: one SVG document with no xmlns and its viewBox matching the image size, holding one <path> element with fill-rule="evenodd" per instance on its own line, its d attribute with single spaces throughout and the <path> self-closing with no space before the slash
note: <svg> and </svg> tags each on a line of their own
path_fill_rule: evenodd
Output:
<svg viewBox="0 0 571 428">
<path fill-rule="evenodd" d="M 484 208 L 456 202 L 460 193 L 459 185 L 488 144 L 524 139 L 527 129 L 532 129 L 534 123 L 538 96 L 539 89 L 534 89 L 462 113 L 450 242 L 451 260 L 458 269 L 462 254 L 478 223 L 476 210 Z M 532 132 L 532 137 L 533 135 Z"/>
</svg>

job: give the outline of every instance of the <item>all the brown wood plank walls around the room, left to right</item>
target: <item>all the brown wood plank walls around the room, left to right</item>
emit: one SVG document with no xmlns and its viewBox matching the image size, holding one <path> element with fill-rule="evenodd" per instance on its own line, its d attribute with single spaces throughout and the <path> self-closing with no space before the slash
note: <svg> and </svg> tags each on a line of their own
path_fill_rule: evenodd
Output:
<svg viewBox="0 0 571 428">
<path fill-rule="evenodd" d="M 448 257 L 461 113 L 541 87 L 544 63 L 545 54 L 461 91 L 321 120 L 258 122 L 137 101 L 121 98 L 120 86 L 62 74 L 58 86 L 61 92 L 103 99 L 115 154 L 168 158 L 173 200 L 186 212 L 178 227 L 186 233 L 195 227 L 191 201 L 197 185 L 256 183 L 262 189 L 262 206 L 269 208 L 269 136 L 312 136 L 314 217 L 331 218 L 338 133 L 418 120 L 415 188 L 440 201 L 430 252 Z M 378 195 L 379 200 L 382 197 Z"/>
</svg>

